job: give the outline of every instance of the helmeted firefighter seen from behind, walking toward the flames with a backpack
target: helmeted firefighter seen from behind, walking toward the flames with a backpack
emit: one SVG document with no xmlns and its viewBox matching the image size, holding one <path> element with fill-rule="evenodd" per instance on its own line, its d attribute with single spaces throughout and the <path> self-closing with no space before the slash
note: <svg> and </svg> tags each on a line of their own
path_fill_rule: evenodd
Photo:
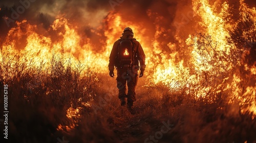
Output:
<svg viewBox="0 0 256 143">
<path fill-rule="evenodd" d="M 143 76 L 146 67 L 144 51 L 140 43 L 133 36 L 134 33 L 131 28 L 127 27 L 123 30 L 122 36 L 113 45 L 109 62 L 110 77 L 114 77 L 115 67 L 117 69 L 116 81 L 121 106 L 126 105 L 125 98 L 127 98 L 127 108 L 129 111 L 133 111 L 133 102 L 136 101 L 135 88 L 138 76 Z M 139 75 L 138 70 L 140 70 Z M 126 84 L 128 87 L 127 94 Z"/>
</svg>

